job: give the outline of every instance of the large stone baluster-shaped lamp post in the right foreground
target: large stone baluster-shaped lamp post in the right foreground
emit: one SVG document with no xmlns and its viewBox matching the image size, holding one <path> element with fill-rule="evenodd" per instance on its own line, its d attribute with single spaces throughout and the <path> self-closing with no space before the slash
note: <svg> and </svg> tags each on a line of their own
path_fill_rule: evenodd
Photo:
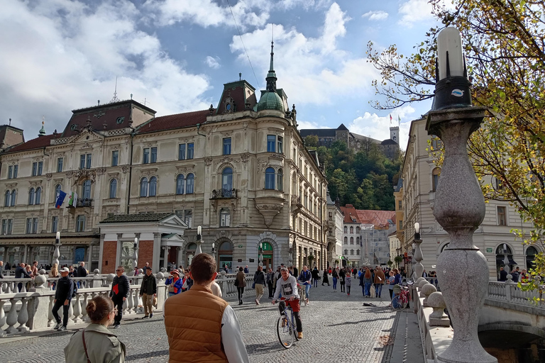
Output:
<svg viewBox="0 0 545 363">
<path fill-rule="evenodd" d="M 438 354 L 437 361 L 496 363 L 478 338 L 488 266 L 473 244 L 473 232 L 485 217 L 485 199 L 467 150 L 469 135 L 483 122 L 485 108 L 471 104 L 460 32 L 451 27 L 441 30 L 437 50 L 434 106 L 428 113 L 426 130 L 439 136 L 445 147 L 434 216 L 451 242 L 437 259 L 437 279 L 454 328 L 451 345 Z"/>
</svg>

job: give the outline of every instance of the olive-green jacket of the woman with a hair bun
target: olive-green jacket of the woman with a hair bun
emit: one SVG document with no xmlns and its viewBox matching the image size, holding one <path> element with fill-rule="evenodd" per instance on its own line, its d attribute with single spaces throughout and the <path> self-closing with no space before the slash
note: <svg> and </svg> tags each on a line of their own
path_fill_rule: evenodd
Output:
<svg viewBox="0 0 545 363">
<path fill-rule="evenodd" d="M 104 325 L 91 323 L 85 328 L 85 345 L 91 362 L 123 363 L 125 362 L 125 345 Z M 82 330 L 78 330 L 70 338 L 65 347 L 65 361 L 71 363 L 87 363 L 83 349 Z"/>
</svg>

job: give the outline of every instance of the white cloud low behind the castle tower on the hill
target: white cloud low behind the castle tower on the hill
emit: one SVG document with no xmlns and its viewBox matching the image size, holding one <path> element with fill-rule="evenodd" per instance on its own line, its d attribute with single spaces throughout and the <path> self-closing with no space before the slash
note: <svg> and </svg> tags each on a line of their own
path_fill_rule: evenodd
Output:
<svg viewBox="0 0 545 363">
<path fill-rule="evenodd" d="M 407 148 L 409 140 L 410 121 L 414 119 L 414 108 L 411 106 L 403 106 L 392 110 L 391 113 L 385 116 L 378 116 L 376 113 L 365 112 L 363 116 L 354 119 L 350 124 L 346 125 L 352 133 L 357 133 L 363 136 L 369 136 L 376 140 L 386 140 L 390 138 L 390 125 L 397 125 L 398 116 L 400 118 L 400 148 Z M 390 115 L 392 115 L 392 123 L 390 123 Z"/>
</svg>

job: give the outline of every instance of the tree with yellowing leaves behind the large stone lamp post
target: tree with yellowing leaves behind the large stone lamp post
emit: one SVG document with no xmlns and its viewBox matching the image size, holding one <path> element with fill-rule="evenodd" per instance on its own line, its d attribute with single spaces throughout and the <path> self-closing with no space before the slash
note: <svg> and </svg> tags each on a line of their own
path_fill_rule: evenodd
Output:
<svg viewBox="0 0 545 363">
<path fill-rule="evenodd" d="M 417 52 L 404 57 L 395 45 L 382 52 L 368 43 L 369 61 L 382 79 L 375 91 L 395 108 L 429 99 L 434 85 L 436 35 L 446 26 L 461 31 L 473 103 L 489 107 L 468 143 L 486 199 L 510 201 L 521 218 L 534 223 L 525 243 L 544 247 L 545 230 L 545 5 L 524 0 L 454 0 L 445 9 L 431 0 L 442 26 L 431 28 Z M 497 180 L 497 183 L 495 182 Z M 543 254 L 532 274 L 545 274 Z M 540 263 L 541 262 L 541 263 Z"/>
</svg>

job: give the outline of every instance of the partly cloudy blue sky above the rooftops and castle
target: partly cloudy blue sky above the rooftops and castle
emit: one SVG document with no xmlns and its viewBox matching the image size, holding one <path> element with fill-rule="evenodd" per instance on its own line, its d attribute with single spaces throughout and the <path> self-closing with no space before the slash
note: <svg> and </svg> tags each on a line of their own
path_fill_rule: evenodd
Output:
<svg viewBox="0 0 545 363">
<path fill-rule="evenodd" d="M 238 73 L 265 88 L 270 41 L 277 87 L 299 129 L 337 128 L 378 140 L 431 101 L 377 110 L 380 73 L 365 55 L 396 44 L 409 55 L 435 25 L 427 0 L 3 0 L 0 125 L 63 130 L 72 110 L 133 99 L 156 116 L 217 106 Z M 117 79 L 117 86 L 116 86 Z M 257 91 L 258 94 L 259 91 Z"/>
</svg>

